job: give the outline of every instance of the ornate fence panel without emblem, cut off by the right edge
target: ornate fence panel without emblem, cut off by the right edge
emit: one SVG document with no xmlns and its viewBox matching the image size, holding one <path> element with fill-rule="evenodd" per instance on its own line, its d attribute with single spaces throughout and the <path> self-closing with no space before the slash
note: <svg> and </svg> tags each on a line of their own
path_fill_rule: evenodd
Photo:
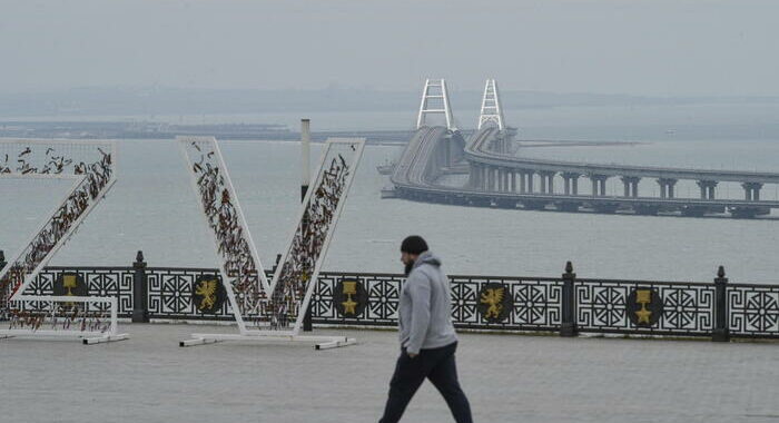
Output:
<svg viewBox="0 0 779 423">
<path fill-rule="evenodd" d="M 727 298 L 731 335 L 779 337 L 779 286 L 732 284 Z"/>
</svg>

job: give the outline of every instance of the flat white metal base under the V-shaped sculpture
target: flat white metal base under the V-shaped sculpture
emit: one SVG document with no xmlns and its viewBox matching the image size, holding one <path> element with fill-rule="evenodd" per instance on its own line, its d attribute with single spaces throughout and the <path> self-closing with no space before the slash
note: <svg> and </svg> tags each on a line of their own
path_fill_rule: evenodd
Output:
<svg viewBox="0 0 779 423">
<path fill-rule="evenodd" d="M 314 344 L 315 350 L 339 348 L 342 346 L 354 345 L 356 338 L 346 336 L 313 336 L 296 335 L 292 332 L 256 331 L 245 335 L 239 334 L 193 334 L 193 340 L 181 341 L 178 346 L 195 346 L 214 344 L 220 341 L 248 341 L 258 343 L 269 342 L 294 342 Z"/>
</svg>

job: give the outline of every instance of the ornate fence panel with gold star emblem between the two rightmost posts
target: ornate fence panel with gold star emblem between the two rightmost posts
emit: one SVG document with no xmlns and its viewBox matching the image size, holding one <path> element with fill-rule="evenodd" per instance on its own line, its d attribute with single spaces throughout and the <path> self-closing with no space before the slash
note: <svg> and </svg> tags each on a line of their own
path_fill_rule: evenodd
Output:
<svg viewBox="0 0 779 423">
<path fill-rule="evenodd" d="M 700 283 L 576 279 L 581 332 L 709 336 L 714 286 Z"/>
</svg>

